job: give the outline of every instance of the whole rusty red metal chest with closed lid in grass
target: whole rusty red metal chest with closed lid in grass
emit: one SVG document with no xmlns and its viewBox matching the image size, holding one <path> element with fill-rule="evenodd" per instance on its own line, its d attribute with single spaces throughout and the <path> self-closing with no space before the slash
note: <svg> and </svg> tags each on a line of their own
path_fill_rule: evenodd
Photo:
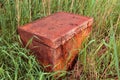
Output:
<svg viewBox="0 0 120 80">
<path fill-rule="evenodd" d="M 26 45 L 47 71 L 67 70 L 77 56 L 82 41 L 91 31 L 92 18 L 59 12 L 18 28 Z"/>
</svg>

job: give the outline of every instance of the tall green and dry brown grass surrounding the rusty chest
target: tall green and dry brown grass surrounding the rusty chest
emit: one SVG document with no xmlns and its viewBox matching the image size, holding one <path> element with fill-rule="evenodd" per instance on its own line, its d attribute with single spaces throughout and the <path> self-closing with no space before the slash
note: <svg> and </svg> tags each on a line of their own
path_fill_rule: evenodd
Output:
<svg viewBox="0 0 120 80">
<path fill-rule="evenodd" d="M 58 11 L 93 17 L 93 31 L 79 53 L 77 69 L 47 73 L 22 47 L 17 27 Z M 0 0 L 1 80 L 55 80 L 57 73 L 63 80 L 120 80 L 119 58 L 119 0 Z"/>
</svg>

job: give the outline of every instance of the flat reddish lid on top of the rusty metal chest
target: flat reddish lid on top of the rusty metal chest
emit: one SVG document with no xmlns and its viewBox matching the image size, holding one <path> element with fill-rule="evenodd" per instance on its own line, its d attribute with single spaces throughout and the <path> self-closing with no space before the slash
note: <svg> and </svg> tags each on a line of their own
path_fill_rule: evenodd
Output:
<svg viewBox="0 0 120 80">
<path fill-rule="evenodd" d="M 21 26 L 18 30 L 32 34 L 31 37 L 36 36 L 38 42 L 51 48 L 57 48 L 72 38 L 74 34 L 91 26 L 92 22 L 92 18 L 58 12 Z"/>
</svg>

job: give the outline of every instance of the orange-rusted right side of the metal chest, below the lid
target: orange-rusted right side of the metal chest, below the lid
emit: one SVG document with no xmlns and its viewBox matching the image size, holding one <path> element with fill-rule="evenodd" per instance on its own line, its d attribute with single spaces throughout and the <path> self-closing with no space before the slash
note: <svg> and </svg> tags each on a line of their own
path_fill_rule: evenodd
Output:
<svg viewBox="0 0 120 80">
<path fill-rule="evenodd" d="M 92 27 L 89 26 L 83 31 L 76 34 L 65 44 L 59 46 L 56 49 L 56 54 L 54 54 L 54 71 L 56 70 L 68 70 L 72 67 L 72 62 L 80 51 L 81 44 L 83 40 L 90 34 Z M 57 54 L 59 53 L 59 54 Z"/>
</svg>

